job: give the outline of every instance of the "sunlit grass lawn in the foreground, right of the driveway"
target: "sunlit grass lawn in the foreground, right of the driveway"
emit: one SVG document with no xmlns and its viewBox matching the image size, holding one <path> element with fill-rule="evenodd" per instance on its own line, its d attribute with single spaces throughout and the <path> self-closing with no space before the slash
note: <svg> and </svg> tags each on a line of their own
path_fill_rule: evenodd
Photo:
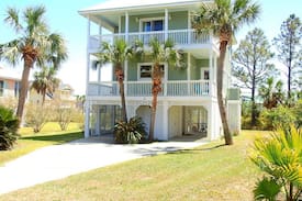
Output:
<svg viewBox="0 0 302 201">
<path fill-rule="evenodd" d="M 261 175 L 248 158 L 256 133 L 266 134 L 245 131 L 234 146 L 217 141 L 135 159 L 18 190 L 0 200 L 253 200 Z"/>
</svg>

